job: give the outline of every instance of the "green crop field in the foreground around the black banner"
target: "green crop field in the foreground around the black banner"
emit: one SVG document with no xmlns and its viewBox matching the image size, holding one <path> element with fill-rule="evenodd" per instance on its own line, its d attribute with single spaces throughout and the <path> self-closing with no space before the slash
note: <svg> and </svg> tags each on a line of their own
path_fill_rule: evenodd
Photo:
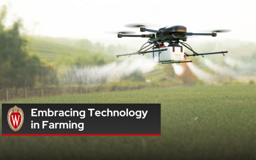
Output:
<svg viewBox="0 0 256 160">
<path fill-rule="evenodd" d="M 162 113 L 161 136 L 1 136 L 0 159 L 255 159 L 255 102 L 255 85 L 187 86 L 0 101 L 1 106 L 160 103 Z M 2 132 L 1 116 L 5 115 L 0 114 Z"/>
</svg>

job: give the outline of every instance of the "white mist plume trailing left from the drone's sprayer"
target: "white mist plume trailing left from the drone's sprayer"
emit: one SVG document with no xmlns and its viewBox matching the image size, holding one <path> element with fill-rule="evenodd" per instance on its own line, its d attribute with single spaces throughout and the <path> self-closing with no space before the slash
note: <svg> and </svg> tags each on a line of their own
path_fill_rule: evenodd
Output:
<svg viewBox="0 0 256 160">
<path fill-rule="evenodd" d="M 65 84 L 99 84 L 119 81 L 131 73 L 145 74 L 151 72 L 157 63 L 147 63 L 149 59 L 140 57 L 134 61 L 112 62 L 104 66 L 62 66 L 59 80 Z"/>
</svg>

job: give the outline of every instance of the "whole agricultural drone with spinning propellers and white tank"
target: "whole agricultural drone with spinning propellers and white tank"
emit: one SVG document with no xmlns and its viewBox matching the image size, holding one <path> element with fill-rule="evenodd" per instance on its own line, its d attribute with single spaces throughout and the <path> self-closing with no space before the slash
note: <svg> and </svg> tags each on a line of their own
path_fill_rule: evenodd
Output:
<svg viewBox="0 0 256 160">
<path fill-rule="evenodd" d="M 207 33 L 188 33 L 187 28 L 185 26 L 165 26 L 160 28 L 159 30 L 151 30 L 147 29 L 146 27 L 157 26 L 157 24 L 149 24 L 149 23 L 131 23 L 126 24 L 125 27 L 129 28 L 140 28 L 141 32 L 149 31 L 148 34 L 141 34 L 141 35 L 133 35 L 135 32 L 133 31 L 115 31 L 115 32 L 108 32 L 108 33 L 117 33 L 118 38 L 122 37 L 141 37 L 141 38 L 148 38 L 148 41 L 145 44 L 148 44 L 146 47 L 144 45 L 141 47 L 140 50 L 131 54 L 123 54 L 123 55 L 116 55 L 117 58 L 119 56 L 131 56 L 131 55 L 144 55 L 150 53 L 151 62 L 161 62 L 162 64 L 165 63 L 186 63 L 192 61 L 183 61 L 183 59 L 187 56 L 202 56 L 204 55 L 211 55 L 211 54 L 223 54 L 227 51 L 221 52 L 211 52 L 211 53 L 204 53 L 198 54 L 195 52 L 189 44 L 186 44 L 184 41 L 187 41 L 187 38 L 192 35 L 211 35 L 212 37 L 216 37 L 217 33 L 224 33 L 229 32 L 231 30 L 212 30 L 212 31 L 205 31 Z M 168 42 L 169 45 L 165 46 L 164 42 Z M 182 45 L 179 45 L 182 44 Z M 147 48 L 148 47 L 148 48 Z M 189 49 L 193 54 L 186 54 L 185 48 Z M 144 51 L 142 51 L 145 49 Z"/>
</svg>

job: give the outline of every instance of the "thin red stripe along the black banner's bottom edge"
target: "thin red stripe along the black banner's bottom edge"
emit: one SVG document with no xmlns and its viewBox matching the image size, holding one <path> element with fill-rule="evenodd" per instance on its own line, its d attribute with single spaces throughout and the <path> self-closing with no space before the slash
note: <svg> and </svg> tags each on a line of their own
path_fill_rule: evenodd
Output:
<svg viewBox="0 0 256 160">
<path fill-rule="evenodd" d="M 161 134 L 2 134 L 2 136 L 161 136 Z"/>
</svg>

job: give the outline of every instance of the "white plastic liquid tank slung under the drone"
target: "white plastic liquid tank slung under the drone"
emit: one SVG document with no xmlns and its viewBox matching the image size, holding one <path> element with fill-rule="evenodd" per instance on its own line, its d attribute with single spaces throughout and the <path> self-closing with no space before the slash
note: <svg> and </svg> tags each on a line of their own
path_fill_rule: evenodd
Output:
<svg viewBox="0 0 256 160">
<path fill-rule="evenodd" d="M 161 62 L 161 61 L 183 61 L 184 59 L 184 48 L 180 47 L 163 47 L 159 49 L 165 49 L 167 51 L 159 51 L 159 52 L 151 52 L 150 53 L 150 60 L 152 62 Z M 157 51 L 158 48 L 151 49 L 150 51 Z"/>
</svg>

